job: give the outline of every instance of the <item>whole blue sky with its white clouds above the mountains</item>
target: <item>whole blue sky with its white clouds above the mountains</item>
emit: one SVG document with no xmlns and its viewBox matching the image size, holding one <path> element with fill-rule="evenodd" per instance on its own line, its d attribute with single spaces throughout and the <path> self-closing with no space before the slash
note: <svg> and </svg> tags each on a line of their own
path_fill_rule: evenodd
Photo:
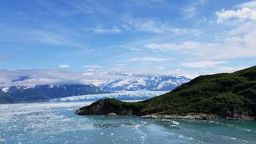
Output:
<svg viewBox="0 0 256 144">
<path fill-rule="evenodd" d="M 2 0 L 0 82 L 38 70 L 234 72 L 256 65 L 255 20 L 244 0 Z"/>
</svg>

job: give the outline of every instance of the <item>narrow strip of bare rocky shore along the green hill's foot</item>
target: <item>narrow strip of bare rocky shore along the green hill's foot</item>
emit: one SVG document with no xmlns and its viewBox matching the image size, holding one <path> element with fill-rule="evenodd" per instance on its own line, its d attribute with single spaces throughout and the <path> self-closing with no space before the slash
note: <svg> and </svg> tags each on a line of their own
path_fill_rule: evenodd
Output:
<svg viewBox="0 0 256 144">
<path fill-rule="evenodd" d="M 175 118 L 175 119 L 192 119 L 192 120 L 239 120 L 239 121 L 255 121 L 255 116 L 237 116 L 237 117 L 221 117 L 218 115 L 160 115 L 157 113 L 143 115 L 140 118 Z"/>
</svg>

